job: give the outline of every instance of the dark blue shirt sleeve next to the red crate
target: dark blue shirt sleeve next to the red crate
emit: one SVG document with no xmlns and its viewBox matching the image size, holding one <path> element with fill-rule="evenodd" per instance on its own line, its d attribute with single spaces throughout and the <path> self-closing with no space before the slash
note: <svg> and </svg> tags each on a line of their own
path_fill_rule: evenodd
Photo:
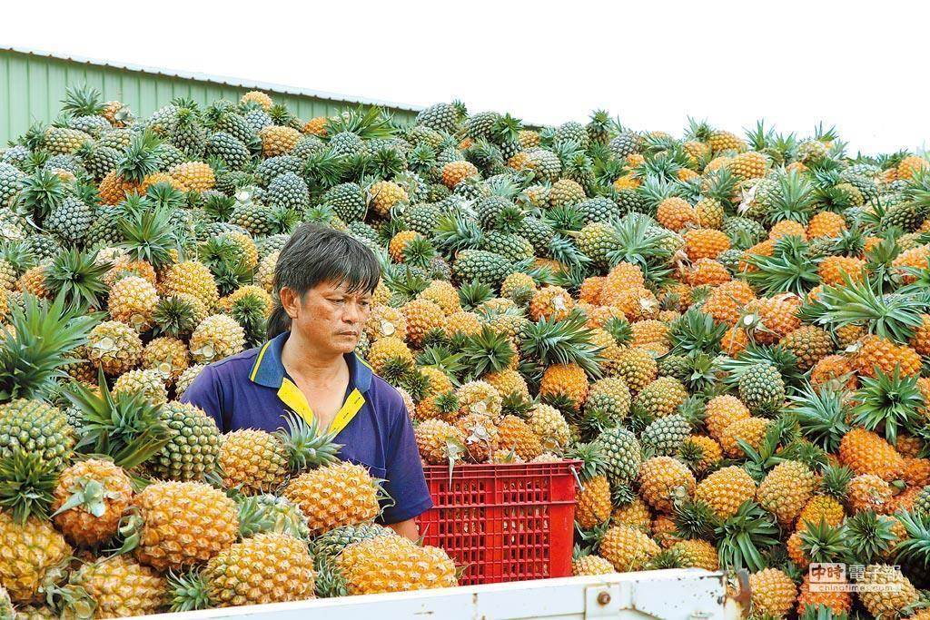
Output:
<svg viewBox="0 0 930 620">
<path fill-rule="evenodd" d="M 419 517 L 432 508 L 432 497 L 423 475 L 423 462 L 419 457 L 413 424 L 403 401 L 400 401 L 399 409 L 392 418 L 386 451 L 387 481 L 384 490 L 391 495 L 393 504 L 385 508 L 381 515 L 381 521 L 389 524 Z"/>
</svg>

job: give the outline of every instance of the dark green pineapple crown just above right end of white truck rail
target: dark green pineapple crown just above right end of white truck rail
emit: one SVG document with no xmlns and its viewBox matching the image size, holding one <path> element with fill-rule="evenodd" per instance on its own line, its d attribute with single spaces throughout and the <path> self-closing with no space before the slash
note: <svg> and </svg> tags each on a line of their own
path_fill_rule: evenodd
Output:
<svg viewBox="0 0 930 620">
<path fill-rule="evenodd" d="M 720 540 L 718 556 L 723 566 L 761 571 L 766 566 L 763 549 L 780 545 L 775 515 L 753 501 L 745 502 L 737 513 L 714 530 Z"/>
</svg>

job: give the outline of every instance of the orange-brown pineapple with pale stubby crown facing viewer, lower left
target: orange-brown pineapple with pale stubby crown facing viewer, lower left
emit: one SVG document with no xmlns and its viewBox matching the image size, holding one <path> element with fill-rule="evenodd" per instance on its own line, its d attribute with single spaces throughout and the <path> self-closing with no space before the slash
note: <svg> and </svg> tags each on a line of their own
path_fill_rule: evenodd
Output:
<svg viewBox="0 0 930 620">
<path fill-rule="evenodd" d="M 116 534 L 132 495 L 132 483 L 122 468 L 89 458 L 61 472 L 53 520 L 74 545 L 94 547 Z"/>
</svg>

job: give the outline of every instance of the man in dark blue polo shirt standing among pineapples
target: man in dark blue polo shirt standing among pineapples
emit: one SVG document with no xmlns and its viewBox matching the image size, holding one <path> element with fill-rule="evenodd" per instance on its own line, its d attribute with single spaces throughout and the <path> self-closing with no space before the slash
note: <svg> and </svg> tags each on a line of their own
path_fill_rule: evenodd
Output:
<svg viewBox="0 0 930 620">
<path fill-rule="evenodd" d="M 416 539 L 414 519 L 432 508 L 413 427 L 400 393 L 355 353 L 380 278 L 378 258 L 339 231 L 302 224 L 274 270 L 271 338 L 207 366 L 181 397 L 222 432 L 285 426 L 293 411 L 338 431 L 343 460 L 386 480 L 381 521 Z"/>
</svg>

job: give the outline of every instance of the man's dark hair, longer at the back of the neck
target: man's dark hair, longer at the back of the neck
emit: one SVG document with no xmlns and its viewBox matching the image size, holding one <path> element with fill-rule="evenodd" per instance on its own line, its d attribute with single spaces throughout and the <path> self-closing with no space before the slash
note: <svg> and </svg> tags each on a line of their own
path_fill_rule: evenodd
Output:
<svg viewBox="0 0 930 620">
<path fill-rule="evenodd" d="M 268 319 L 268 337 L 290 329 L 291 319 L 281 305 L 281 289 L 303 297 L 318 284 L 345 285 L 350 293 L 372 293 L 378 286 L 378 257 L 357 239 L 318 224 L 303 223 L 281 248 L 274 267 L 274 310 Z"/>
</svg>

